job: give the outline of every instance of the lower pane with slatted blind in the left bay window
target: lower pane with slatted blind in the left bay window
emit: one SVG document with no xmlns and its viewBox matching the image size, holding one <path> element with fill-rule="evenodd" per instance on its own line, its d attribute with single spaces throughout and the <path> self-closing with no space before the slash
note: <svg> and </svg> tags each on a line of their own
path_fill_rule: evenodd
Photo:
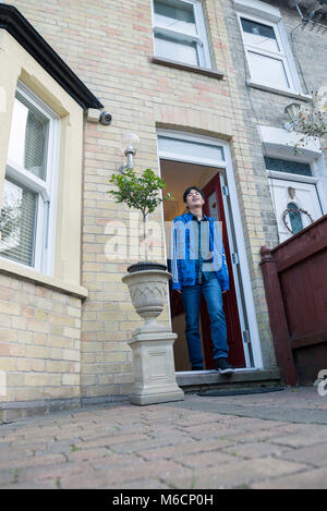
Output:
<svg viewBox="0 0 327 511">
<path fill-rule="evenodd" d="M 12 181 L 4 181 L 0 215 L 0 255 L 34 266 L 38 194 Z"/>
</svg>

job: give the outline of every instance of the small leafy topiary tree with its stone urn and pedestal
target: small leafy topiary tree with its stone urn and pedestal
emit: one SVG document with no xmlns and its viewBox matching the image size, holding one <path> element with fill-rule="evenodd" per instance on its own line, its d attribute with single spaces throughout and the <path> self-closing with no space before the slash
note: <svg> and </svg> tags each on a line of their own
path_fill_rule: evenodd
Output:
<svg viewBox="0 0 327 511">
<path fill-rule="evenodd" d="M 126 169 L 123 174 L 112 174 L 110 183 L 118 187 L 109 192 L 114 200 L 137 209 L 143 217 L 145 260 L 129 266 L 128 273 L 122 277 L 136 313 L 144 319 L 143 326 L 136 328 L 128 341 L 134 367 L 130 401 L 143 405 L 182 400 L 184 393 L 175 381 L 172 350 L 177 334 L 156 320 L 167 302 L 171 273 L 166 265 L 147 260 L 146 244 L 147 216 L 172 195 L 161 197 L 166 183 L 152 169 L 144 170 L 138 177 L 134 170 Z"/>
</svg>

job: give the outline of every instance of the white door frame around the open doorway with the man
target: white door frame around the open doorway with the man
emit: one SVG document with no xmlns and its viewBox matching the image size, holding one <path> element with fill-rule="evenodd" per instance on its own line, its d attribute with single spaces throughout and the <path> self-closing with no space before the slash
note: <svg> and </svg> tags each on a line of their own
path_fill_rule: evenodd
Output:
<svg viewBox="0 0 327 511">
<path fill-rule="evenodd" d="M 237 187 L 235 187 L 235 182 L 234 182 L 234 177 L 233 177 L 233 168 L 232 168 L 232 160 L 231 160 L 229 144 L 226 141 L 220 141 L 217 138 L 211 138 L 211 137 L 207 137 L 203 135 L 191 135 L 190 133 L 172 131 L 172 130 L 161 130 L 161 129 L 157 130 L 157 135 L 158 137 L 165 136 L 169 138 L 179 139 L 181 142 L 182 141 L 189 142 L 189 143 L 194 142 L 195 144 L 202 143 L 202 144 L 207 144 L 211 146 L 218 146 L 218 147 L 221 147 L 223 150 L 225 159 L 216 160 L 216 159 L 209 159 L 203 156 L 197 157 L 197 156 L 190 156 L 185 154 L 183 155 L 182 151 L 172 153 L 172 151 L 167 151 L 167 150 L 160 150 L 159 144 L 158 144 L 158 153 L 157 153 L 158 169 L 161 175 L 160 158 L 162 158 L 166 160 L 183 161 L 183 162 L 189 162 L 189 163 L 207 166 L 211 168 L 215 167 L 217 168 L 217 170 L 222 169 L 225 171 L 225 179 L 227 181 L 226 184 L 228 186 L 229 199 L 230 199 L 230 208 L 229 208 L 228 203 L 227 203 L 227 197 L 223 196 L 225 215 L 227 219 L 227 231 L 228 231 L 231 252 L 233 251 L 233 252 L 237 252 L 238 254 L 241 279 L 242 279 L 242 284 L 243 284 L 243 293 L 244 293 L 244 296 L 246 296 L 246 301 L 242 303 L 239 276 L 238 276 L 237 268 L 234 267 L 235 265 L 233 265 L 233 276 L 234 276 L 235 288 L 237 288 L 237 299 L 238 299 L 238 306 L 239 306 L 239 312 L 240 312 L 241 327 L 243 331 L 244 319 L 241 317 L 242 316 L 241 312 L 245 308 L 243 313 L 246 315 L 247 324 L 249 324 L 251 351 L 252 351 L 252 358 L 253 358 L 252 368 L 261 369 L 263 368 L 262 348 L 261 348 L 261 342 L 259 342 L 259 334 L 258 334 L 255 306 L 254 306 L 254 300 L 253 300 L 253 291 L 252 291 L 251 278 L 250 278 L 250 269 L 249 269 L 249 264 L 247 264 L 247 258 L 246 258 L 241 212 L 240 212 L 239 199 L 238 199 Z M 220 182 L 221 182 L 221 179 L 220 179 Z M 161 212 L 162 212 L 162 227 L 164 227 L 162 204 L 161 204 Z M 237 246 L 233 246 L 233 236 L 231 233 L 232 226 L 234 228 Z M 166 246 L 165 246 L 165 252 L 167 256 Z M 245 340 L 243 339 L 245 363 L 246 363 L 246 367 L 250 368 L 252 364 L 250 350 L 249 350 L 249 344 L 244 341 Z"/>
</svg>

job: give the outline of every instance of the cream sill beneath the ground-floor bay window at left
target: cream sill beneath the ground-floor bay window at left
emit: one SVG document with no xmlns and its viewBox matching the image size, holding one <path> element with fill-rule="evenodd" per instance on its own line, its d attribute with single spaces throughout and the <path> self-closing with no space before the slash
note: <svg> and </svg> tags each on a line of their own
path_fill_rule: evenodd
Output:
<svg viewBox="0 0 327 511">
<path fill-rule="evenodd" d="M 82 285 L 73 284 L 72 282 L 64 282 L 62 280 L 56 279 L 55 277 L 49 277 L 47 275 L 39 273 L 33 268 L 27 268 L 15 263 L 0 257 L 0 273 L 8 273 L 12 277 L 17 277 L 29 282 L 35 282 L 39 285 L 45 285 L 57 291 L 61 291 L 78 299 L 86 299 L 88 291 Z"/>
</svg>

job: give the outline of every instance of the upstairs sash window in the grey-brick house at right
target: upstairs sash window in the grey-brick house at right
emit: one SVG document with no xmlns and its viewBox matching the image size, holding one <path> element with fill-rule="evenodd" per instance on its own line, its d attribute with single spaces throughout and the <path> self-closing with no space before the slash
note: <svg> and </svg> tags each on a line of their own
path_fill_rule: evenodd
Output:
<svg viewBox="0 0 327 511">
<path fill-rule="evenodd" d="M 244 49 L 251 80 L 269 87 L 292 90 L 298 87 L 280 23 L 240 14 Z"/>
</svg>

